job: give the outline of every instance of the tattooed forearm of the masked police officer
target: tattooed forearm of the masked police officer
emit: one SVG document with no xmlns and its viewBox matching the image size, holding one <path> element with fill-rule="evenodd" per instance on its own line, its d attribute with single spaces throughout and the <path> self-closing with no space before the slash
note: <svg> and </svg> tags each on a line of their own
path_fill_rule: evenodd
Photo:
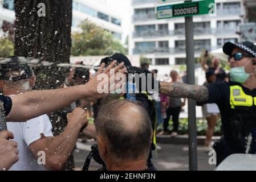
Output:
<svg viewBox="0 0 256 182">
<path fill-rule="evenodd" d="M 181 82 L 160 82 L 159 92 L 166 96 L 192 98 L 198 102 L 208 100 L 208 89 L 201 85 L 187 85 Z"/>
</svg>

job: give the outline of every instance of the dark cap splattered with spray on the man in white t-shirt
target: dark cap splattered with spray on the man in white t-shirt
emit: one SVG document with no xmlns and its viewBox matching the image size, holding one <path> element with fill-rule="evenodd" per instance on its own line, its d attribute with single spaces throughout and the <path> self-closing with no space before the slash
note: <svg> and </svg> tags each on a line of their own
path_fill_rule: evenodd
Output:
<svg viewBox="0 0 256 182">
<path fill-rule="evenodd" d="M 6 76 L 10 71 L 18 71 L 17 76 Z M 25 57 L 11 56 L 0 60 L 0 79 L 7 81 L 19 81 L 30 78 L 33 71 Z"/>
</svg>

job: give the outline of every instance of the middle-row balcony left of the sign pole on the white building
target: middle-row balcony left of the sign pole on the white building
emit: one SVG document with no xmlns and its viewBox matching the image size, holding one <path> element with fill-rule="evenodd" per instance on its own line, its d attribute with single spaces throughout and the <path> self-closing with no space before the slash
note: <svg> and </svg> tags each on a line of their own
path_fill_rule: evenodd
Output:
<svg viewBox="0 0 256 182">
<path fill-rule="evenodd" d="M 133 38 L 156 38 L 161 36 L 173 36 L 173 31 L 169 30 L 146 30 L 133 32 Z"/>
</svg>

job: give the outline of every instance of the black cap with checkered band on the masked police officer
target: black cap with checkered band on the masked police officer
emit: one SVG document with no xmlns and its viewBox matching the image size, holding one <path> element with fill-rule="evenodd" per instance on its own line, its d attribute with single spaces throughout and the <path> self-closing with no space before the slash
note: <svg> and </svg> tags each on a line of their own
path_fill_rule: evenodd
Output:
<svg viewBox="0 0 256 182">
<path fill-rule="evenodd" d="M 253 42 L 245 41 L 245 42 L 239 42 L 237 44 L 227 42 L 224 44 L 222 49 L 226 55 L 231 56 L 231 53 L 234 48 L 242 49 L 243 51 L 249 53 L 253 57 L 256 57 L 256 46 L 254 45 Z"/>
</svg>

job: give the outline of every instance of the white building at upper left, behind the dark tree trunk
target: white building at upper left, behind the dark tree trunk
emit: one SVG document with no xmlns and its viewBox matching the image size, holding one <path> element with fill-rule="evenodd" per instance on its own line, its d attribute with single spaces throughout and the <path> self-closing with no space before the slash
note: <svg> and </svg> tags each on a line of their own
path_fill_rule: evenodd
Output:
<svg viewBox="0 0 256 182">
<path fill-rule="evenodd" d="M 111 32 L 114 38 L 123 40 L 123 27 L 121 16 L 111 8 L 105 8 L 106 1 L 73 0 L 72 2 L 72 31 L 79 31 L 79 24 L 89 19 L 98 26 Z M 0 25 L 15 21 L 14 0 L 3 0 L 0 7 Z"/>
</svg>

